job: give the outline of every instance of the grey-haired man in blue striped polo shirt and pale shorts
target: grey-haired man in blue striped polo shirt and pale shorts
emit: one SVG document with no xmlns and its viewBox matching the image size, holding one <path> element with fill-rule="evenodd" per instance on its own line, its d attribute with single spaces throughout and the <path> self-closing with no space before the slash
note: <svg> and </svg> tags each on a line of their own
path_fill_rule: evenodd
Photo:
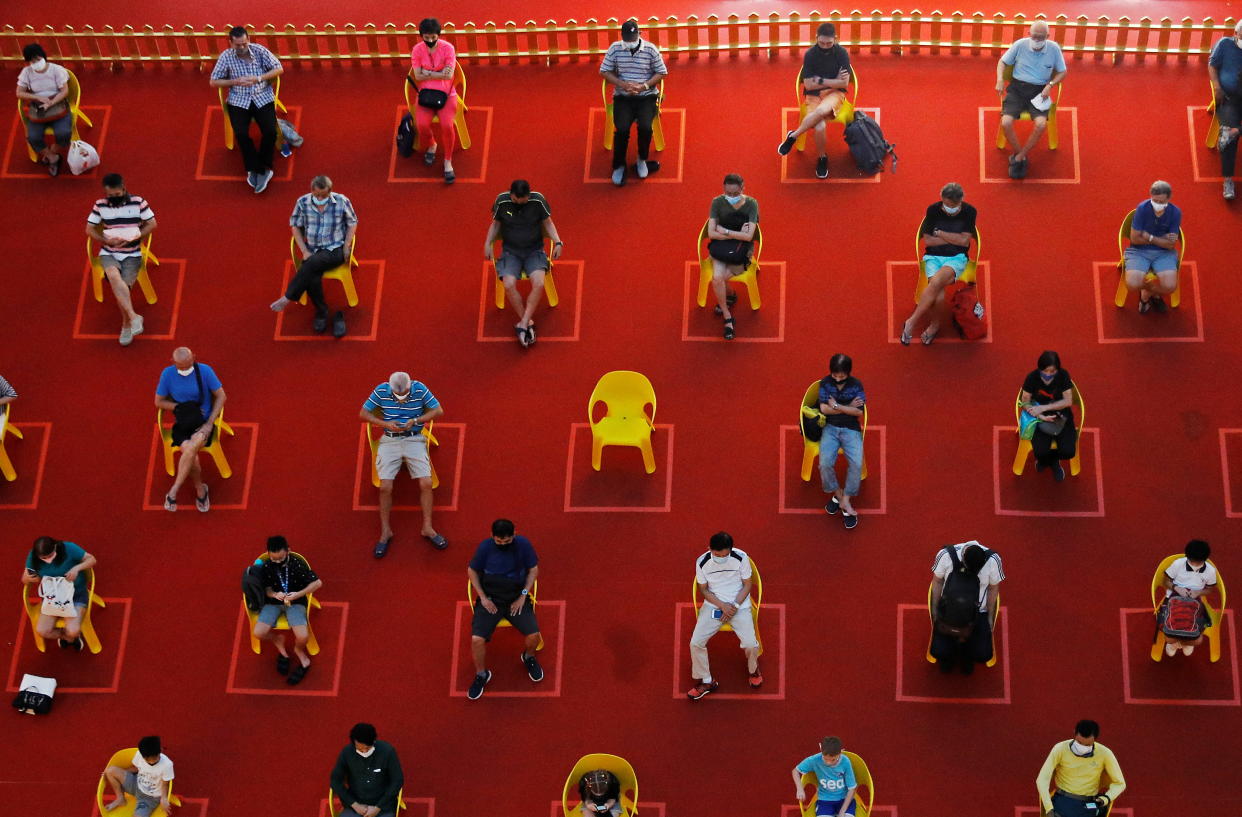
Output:
<svg viewBox="0 0 1242 817">
<path fill-rule="evenodd" d="M 375 453 L 375 471 L 380 477 L 380 538 L 375 543 L 375 557 L 383 559 L 392 543 L 392 481 L 405 464 L 410 476 L 419 482 L 419 503 L 422 505 L 422 538 L 443 550 L 448 540 L 431 526 L 431 459 L 427 457 L 427 440 L 424 427 L 443 416 L 445 410 L 431 390 L 405 371 L 394 371 L 388 382 L 375 386 L 359 417 L 364 422 L 384 430 Z"/>
</svg>

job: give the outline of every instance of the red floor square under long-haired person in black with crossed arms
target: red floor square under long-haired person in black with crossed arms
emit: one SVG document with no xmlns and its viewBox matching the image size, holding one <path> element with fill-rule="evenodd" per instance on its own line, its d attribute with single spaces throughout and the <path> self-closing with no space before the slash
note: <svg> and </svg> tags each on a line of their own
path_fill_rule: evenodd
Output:
<svg viewBox="0 0 1242 817">
<path fill-rule="evenodd" d="M 1086 438 L 1090 437 L 1088 447 Z M 1017 428 L 1013 426 L 992 426 L 992 507 L 997 517 L 1103 517 L 1104 515 L 1104 468 L 1099 454 L 1099 428 L 1079 428 L 1078 448 L 1083 452 L 1082 472 L 1074 477 L 1069 473 L 1069 462 L 1062 462 L 1066 469 L 1063 482 L 1056 482 L 1048 472 L 1035 469 L 1035 454 L 1027 454 L 1026 469 L 1018 477 L 1013 473 L 1013 454 L 1017 449 Z M 1094 477 L 1094 492 L 1092 492 Z M 1026 508 L 1002 507 L 1004 493 L 1013 499 L 1021 497 Z M 1094 494 L 1094 495 L 1092 495 Z M 1087 502 L 1092 505 L 1086 504 Z M 1036 508 L 1062 507 L 1074 503 L 1079 507 L 1063 510 L 1037 510 Z"/>
</svg>

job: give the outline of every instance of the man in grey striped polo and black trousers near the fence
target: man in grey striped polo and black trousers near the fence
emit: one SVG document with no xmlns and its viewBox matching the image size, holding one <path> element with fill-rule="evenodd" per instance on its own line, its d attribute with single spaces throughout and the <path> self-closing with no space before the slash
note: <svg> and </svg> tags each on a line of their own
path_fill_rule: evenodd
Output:
<svg viewBox="0 0 1242 817">
<path fill-rule="evenodd" d="M 638 163 L 635 169 L 640 179 L 656 170 L 658 164 L 648 161 L 652 123 L 660 104 L 660 83 L 668 76 L 660 50 L 638 36 L 638 24 L 626 20 L 621 24 L 621 41 L 614 42 L 604 52 L 600 74 L 614 86 L 612 124 L 612 184 L 621 186 L 626 178 L 626 151 L 630 149 L 630 128 L 638 123 Z"/>
</svg>

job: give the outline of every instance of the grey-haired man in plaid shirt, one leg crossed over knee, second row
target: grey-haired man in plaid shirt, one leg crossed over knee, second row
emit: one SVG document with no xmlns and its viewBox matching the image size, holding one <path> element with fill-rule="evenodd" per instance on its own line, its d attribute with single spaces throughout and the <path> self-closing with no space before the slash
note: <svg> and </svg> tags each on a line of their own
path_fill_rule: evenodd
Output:
<svg viewBox="0 0 1242 817">
<path fill-rule="evenodd" d="M 272 312 L 309 294 L 314 302 L 312 328 L 317 335 L 328 328 L 328 300 L 323 294 L 323 273 L 349 263 L 354 252 L 354 233 L 358 216 L 354 205 L 345 196 L 332 191 L 332 179 L 315 176 L 310 180 L 310 192 L 298 197 L 289 216 L 293 241 L 302 253 L 296 262 L 296 274 L 284 294 L 272 302 Z M 345 336 L 345 313 L 337 310 L 332 318 L 332 336 Z"/>
</svg>

